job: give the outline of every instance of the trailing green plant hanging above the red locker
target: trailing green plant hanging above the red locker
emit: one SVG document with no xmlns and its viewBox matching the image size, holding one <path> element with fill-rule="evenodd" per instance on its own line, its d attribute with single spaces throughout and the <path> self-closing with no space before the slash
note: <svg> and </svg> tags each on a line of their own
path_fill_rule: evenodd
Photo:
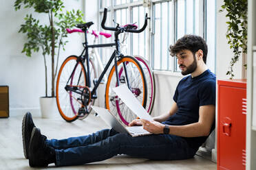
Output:
<svg viewBox="0 0 256 170">
<path fill-rule="evenodd" d="M 248 1 L 247 0 L 224 0 L 222 5 L 223 12 L 226 10 L 226 17 L 229 21 L 226 38 L 228 45 L 233 49 L 234 56 L 231 58 L 231 63 L 226 75 L 232 79 L 235 75 L 233 73 L 233 66 L 239 60 L 239 57 L 247 53 L 247 19 L 248 19 Z M 244 63 L 246 69 L 246 63 Z"/>
</svg>

